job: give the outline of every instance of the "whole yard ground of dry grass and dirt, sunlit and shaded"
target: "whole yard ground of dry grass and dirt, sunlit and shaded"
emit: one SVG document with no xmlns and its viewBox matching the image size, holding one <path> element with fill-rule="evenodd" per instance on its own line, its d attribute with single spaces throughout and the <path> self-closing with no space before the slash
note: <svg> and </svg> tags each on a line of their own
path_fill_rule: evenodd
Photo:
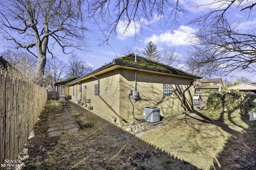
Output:
<svg viewBox="0 0 256 170">
<path fill-rule="evenodd" d="M 49 108 L 40 115 L 25 149 L 23 169 L 256 169 L 256 122 L 219 121 L 206 114 L 172 117 L 169 123 L 136 138 L 108 135 L 94 124 L 74 133 L 48 137 Z"/>
</svg>

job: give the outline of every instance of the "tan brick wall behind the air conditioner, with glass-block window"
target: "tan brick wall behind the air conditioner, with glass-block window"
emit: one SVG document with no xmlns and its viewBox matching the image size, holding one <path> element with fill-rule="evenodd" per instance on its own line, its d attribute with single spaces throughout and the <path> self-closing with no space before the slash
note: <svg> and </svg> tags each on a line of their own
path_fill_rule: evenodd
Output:
<svg viewBox="0 0 256 170">
<path fill-rule="evenodd" d="M 134 105 L 134 116 L 143 116 L 143 108 L 148 106 L 159 107 L 164 115 L 181 113 L 185 111 L 183 104 L 183 92 L 185 92 L 185 103 L 187 109 L 192 109 L 194 88 L 190 86 L 191 79 L 174 76 L 136 72 L 139 100 L 128 98 L 128 90 L 134 91 L 134 71 L 121 70 L 120 74 L 120 116 L 132 120 L 132 104 Z M 163 84 L 172 84 L 172 96 L 163 96 Z M 182 84 L 182 85 L 180 85 Z M 132 98 L 132 96 L 130 96 Z"/>
</svg>

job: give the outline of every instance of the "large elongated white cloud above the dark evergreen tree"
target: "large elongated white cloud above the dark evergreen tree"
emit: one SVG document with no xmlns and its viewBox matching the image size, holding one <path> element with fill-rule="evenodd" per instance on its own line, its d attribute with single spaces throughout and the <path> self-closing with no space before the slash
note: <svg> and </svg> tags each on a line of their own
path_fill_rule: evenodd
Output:
<svg viewBox="0 0 256 170">
<path fill-rule="evenodd" d="M 165 43 L 168 47 L 178 46 L 178 45 L 191 45 L 192 42 L 196 41 L 193 33 L 197 30 L 181 25 L 179 29 L 171 31 L 167 31 L 159 35 L 152 35 L 149 38 L 144 40 L 144 43 L 148 43 L 149 41 L 156 43 Z"/>
</svg>

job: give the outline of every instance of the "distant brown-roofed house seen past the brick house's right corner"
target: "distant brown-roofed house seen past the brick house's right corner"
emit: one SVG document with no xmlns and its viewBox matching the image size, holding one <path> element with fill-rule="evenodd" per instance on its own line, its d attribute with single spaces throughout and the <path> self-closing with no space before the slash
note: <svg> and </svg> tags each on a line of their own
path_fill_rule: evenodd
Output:
<svg viewBox="0 0 256 170">
<path fill-rule="evenodd" d="M 222 78 L 213 78 L 213 79 L 201 79 L 198 82 L 194 82 L 196 86 L 196 93 L 200 93 L 200 91 L 221 91 L 223 87 Z"/>
</svg>

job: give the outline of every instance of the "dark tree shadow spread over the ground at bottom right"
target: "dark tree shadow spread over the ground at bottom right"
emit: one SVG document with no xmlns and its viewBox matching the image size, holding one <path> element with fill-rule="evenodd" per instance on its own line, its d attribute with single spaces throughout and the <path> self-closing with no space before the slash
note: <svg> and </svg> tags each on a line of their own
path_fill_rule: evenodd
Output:
<svg viewBox="0 0 256 170">
<path fill-rule="evenodd" d="M 237 108 L 222 111 L 220 113 L 220 117 L 216 120 L 209 118 L 205 111 L 192 111 L 192 113 L 195 113 L 202 119 L 198 119 L 186 114 L 197 121 L 216 125 L 223 131 L 230 134 L 230 137 L 226 141 L 222 152 L 218 153 L 216 156 L 212 169 L 256 169 L 256 148 L 255 145 L 253 145 L 253 141 L 256 139 L 256 133 L 251 129 L 245 129 L 242 125 L 233 120 L 234 117 L 232 117 L 232 114 L 234 111 L 236 111 L 236 109 Z M 242 123 L 249 123 L 246 118 L 243 116 L 241 117 Z M 225 119 L 227 119 L 230 123 L 228 124 Z M 256 123 L 253 123 L 254 126 L 256 126 Z"/>
</svg>

